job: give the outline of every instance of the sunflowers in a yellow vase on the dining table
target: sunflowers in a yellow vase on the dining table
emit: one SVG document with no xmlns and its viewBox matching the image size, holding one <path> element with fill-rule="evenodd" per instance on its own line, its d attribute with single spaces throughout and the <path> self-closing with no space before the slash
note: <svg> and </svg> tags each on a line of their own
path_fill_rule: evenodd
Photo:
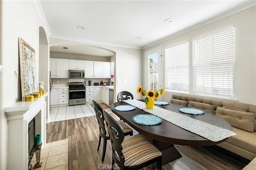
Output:
<svg viewBox="0 0 256 170">
<path fill-rule="evenodd" d="M 159 92 L 159 93 L 158 93 Z M 147 109 L 153 109 L 154 107 L 154 99 L 158 99 L 160 96 L 164 95 L 164 88 L 161 88 L 160 90 L 154 92 L 153 90 L 148 90 L 146 92 L 145 89 L 142 88 L 142 86 L 138 86 L 137 93 L 140 94 L 140 96 L 145 98 L 145 105 Z"/>
</svg>

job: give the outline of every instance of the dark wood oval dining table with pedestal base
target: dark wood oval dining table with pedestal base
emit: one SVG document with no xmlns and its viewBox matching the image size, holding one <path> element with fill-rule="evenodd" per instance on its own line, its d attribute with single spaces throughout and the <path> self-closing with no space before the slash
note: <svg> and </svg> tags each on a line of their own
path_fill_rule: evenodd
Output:
<svg viewBox="0 0 256 170">
<path fill-rule="evenodd" d="M 144 100 L 140 100 L 140 101 L 144 102 Z M 178 127 L 177 125 L 174 125 L 164 119 L 162 123 L 154 126 L 139 125 L 134 121 L 132 121 L 132 117 L 138 114 L 149 114 L 149 113 L 137 107 L 135 110 L 132 110 L 132 111 L 117 111 L 114 109 L 114 107 L 120 106 L 120 105 L 129 105 L 129 104 L 127 104 L 126 102 L 113 103 L 110 106 L 112 112 L 116 114 L 118 117 L 120 117 L 120 119 L 122 119 L 128 125 L 130 125 L 134 130 L 138 131 L 139 134 L 144 135 L 144 137 L 146 137 L 156 148 L 158 148 L 162 152 L 163 165 L 182 157 L 182 155 L 174 147 L 174 144 L 202 147 L 202 146 L 216 145 L 228 139 L 226 138 L 218 142 L 210 141 L 204 137 L 196 135 L 195 133 L 192 133 L 181 127 Z M 164 106 L 155 105 L 154 107 L 162 107 L 164 109 L 174 111 L 176 113 L 186 115 L 188 117 L 192 117 L 194 119 L 198 119 L 200 121 L 204 121 L 206 123 L 210 123 L 218 127 L 223 127 L 225 129 L 232 131 L 232 127 L 228 122 L 210 113 L 204 113 L 203 115 L 190 115 L 190 114 L 180 113 L 178 109 L 182 106 L 176 105 L 176 104 L 169 104 Z"/>
</svg>

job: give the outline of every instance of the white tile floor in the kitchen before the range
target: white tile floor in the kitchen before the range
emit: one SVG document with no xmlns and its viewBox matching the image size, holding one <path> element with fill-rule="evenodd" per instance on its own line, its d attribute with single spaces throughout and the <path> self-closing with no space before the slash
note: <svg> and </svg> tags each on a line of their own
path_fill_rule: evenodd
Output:
<svg viewBox="0 0 256 170">
<path fill-rule="evenodd" d="M 50 122 L 76 119 L 94 115 L 94 108 L 90 104 L 51 107 Z"/>
</svg>

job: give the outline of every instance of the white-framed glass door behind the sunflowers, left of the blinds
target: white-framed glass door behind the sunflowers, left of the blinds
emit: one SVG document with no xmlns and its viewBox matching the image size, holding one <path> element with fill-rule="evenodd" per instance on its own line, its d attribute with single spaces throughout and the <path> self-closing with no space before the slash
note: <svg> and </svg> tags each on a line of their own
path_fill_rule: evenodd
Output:
<svg viewBox="0 0 256 170">
<path fill-rule="evenodd" d="M 146 90 L 162 88 L 162 47 L 146 51 Z M 160 97 L 159 100 L 162 100 Z"/>
</svg>

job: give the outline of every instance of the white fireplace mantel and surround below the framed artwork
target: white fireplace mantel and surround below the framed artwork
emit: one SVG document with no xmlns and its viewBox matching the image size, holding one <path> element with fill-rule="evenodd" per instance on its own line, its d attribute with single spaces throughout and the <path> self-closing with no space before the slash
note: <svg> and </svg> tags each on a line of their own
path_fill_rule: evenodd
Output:
<svg viewBox="0 0 256 170">
<path fill-rule="evenodd" d="M 4 108 L 8 120 L 8 169 L 28 170 L 28 123 L 35 117 L 35 134 L 46 145 L 46 93 L 33 102 L 16 102 Z"/>
</svg>

